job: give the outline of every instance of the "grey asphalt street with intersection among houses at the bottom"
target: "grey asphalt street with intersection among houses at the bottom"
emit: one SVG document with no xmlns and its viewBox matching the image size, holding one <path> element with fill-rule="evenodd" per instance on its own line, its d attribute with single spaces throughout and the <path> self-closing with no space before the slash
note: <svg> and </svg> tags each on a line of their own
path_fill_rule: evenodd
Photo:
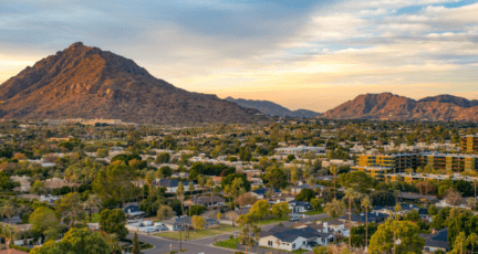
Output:
<svg viewBox="0 0 478 254">
<path fill-rule="evenodd" d="M 298 222 L 312 222 L 318 220 L 323 220 L 329 218 L 325 213 L 319 214 L 319 215 L 311 215 L 306 218 L 299 219 Z M 285 221 L 282 222 L 284 226 L 291 226 L 295 222 Z M 263 225 L 261 226 L 262 231 L 267 231 L 274 226 L 274 224 Z M 215 242 L 215 239 L 218 240 L 226 240 L 231 234 L 237 234 L 237 232 L 230 232 L 221 235 L 214 235 L 209 237 L 198 239 L 198 240 L 190 240 L 190 241 L 183 241 L 183 250 L 187 250 L 187 252 L 183 252 L 184 254 L 198 254 L 198 253 L 205 253 L 205 254 L 232 254 L 235 253 L 233 250 L 229 248 L 222 248 L 218 246 L 214 246 L 212 243 Z M 179 241 L 177 240 L 167 240 L 155 235 L 145 235 L 145 234 L 138 234 L 139 241 L 149 243 L 154 245 L 155 247 L 152 250 L 144 251 L 145 254 L 163 254 L 170 251 L 169 245 L 173 246 L 173 251 L 179 250 Z M 128 234 L 127 239 L 133 239 L 133 234 Z"/>
</svg>

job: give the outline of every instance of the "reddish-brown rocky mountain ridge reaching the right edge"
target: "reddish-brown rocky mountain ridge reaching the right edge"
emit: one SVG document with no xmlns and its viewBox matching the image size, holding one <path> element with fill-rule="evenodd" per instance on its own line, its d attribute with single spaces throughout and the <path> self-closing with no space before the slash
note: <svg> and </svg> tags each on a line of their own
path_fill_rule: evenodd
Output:
<svg viewBox="0 0 478 254">
<path fill-rule="evenodd" d="M 478 100 L 453 95 L 412 99 L 391 93 L 358 95 L 328 110 L 332 119 L 478 120 Z"/>
</svg>

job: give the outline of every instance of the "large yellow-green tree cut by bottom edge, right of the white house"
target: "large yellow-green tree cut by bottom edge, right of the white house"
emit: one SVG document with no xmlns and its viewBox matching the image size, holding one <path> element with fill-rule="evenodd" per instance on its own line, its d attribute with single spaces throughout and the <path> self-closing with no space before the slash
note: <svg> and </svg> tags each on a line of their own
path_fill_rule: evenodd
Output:
<svg viewBox="0 0 478 254">
<path fill-rule="evenodd" d="M 387 220 L 378 225 L 377 231 L 372 235 L 368 252 L 378 254 L 392 252 L 395 247 L 396 254 L 422 253 L 425 246 L 425 239 L 418 236 L 419 226 L 409 221 Z M 401 241 L 395 243 L 395 237 Z"/>
</svg>

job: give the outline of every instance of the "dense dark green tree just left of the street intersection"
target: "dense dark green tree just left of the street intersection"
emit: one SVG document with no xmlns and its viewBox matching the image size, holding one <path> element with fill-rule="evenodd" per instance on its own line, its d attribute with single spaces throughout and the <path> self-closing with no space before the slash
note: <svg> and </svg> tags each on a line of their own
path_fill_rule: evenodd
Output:
<svg viewBox="0 0 478 254">
<path fill-rule="evenodd" d="M 108 234 L 117 234 L 124 239 L 128 231 L 126 229 L 126 213 L 122 209 L 105 209 L 100 213 L 100 230 Z"/>
</svg>

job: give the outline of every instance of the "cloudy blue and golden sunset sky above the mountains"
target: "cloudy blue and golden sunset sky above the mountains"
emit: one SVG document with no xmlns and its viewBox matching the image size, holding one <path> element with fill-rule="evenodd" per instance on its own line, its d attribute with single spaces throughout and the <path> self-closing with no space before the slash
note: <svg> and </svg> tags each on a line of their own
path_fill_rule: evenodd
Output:
<svg viewBox="0 0 478 254">
<path fill-rule="evenodd" d="M 478 98 L 476 1 L 0 0 L 0 84 L 79 41 L 187 91 L 291 109 Z"/>
</svg>

